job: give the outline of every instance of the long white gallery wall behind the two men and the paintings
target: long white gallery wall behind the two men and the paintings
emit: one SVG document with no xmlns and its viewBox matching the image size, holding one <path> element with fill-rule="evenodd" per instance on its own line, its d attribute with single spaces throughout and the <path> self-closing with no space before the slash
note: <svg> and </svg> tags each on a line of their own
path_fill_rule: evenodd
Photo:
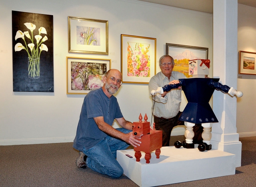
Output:
<svg viewBox="0 0 256 187">
<path fill-rule="evenodd" d="M 54 93 L 13 92 L 12 10 L 53 15 Z M 112 55 L 68 53 L 68 16 L 108 20 Z M 0 18 L 0 145 L 73 141 L 85 95 L 66 94 L 66 56 L 108 58 L 120 70 L 120 35 L 128 34 L 156 38 L 157 63 L 166 43 L 209 48 L 212 60 L 212 14 L 136 0 L 1 0 Z M 127 120 L 140 113 L 151 120 L 148 95 L 147 84 L 121 86 L 116 97 Z"/>
</svg>

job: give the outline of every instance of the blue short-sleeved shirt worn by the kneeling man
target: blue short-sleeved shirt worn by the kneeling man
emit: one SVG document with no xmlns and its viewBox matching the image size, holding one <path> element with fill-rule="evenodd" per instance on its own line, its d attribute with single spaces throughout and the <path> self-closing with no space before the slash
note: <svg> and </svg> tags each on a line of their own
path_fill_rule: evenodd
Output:
<svg viewBox="0 0 256 187">
<path fill-rule="evenodd" d="M 90 91 L 85 97 L 80 113 L 73 147 L 82 151 L 90 149 L 104 137 L 106 133 L 98 128 L 93 117 L 103 116 L 104 121 L 112 125 L 115 118 L 123 117 L 116 97 L 106 96 L 102 88 Z"/>
</svg>

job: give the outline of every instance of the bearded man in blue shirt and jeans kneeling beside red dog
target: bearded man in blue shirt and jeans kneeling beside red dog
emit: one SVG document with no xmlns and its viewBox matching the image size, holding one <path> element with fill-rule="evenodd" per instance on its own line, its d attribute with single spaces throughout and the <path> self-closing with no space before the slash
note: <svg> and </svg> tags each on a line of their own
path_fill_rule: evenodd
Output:
<svg viewBox="0 0 256 187">
<path fill-rule="evenodd" d="M 122 84 L 122 74 L 115 69 L 103 77 L 104 86 L 84 97 L 73 147 L 79 151 L 78 168 L 86 168 L 118 178 L 123 169 L 116 161 L 116 151 L 129 145 L 140 146 L 132 135 L 132 123 L 122 115 L 115 94 Z M 122 128 L 113 128 L 114 119 Z"/>
</svg>

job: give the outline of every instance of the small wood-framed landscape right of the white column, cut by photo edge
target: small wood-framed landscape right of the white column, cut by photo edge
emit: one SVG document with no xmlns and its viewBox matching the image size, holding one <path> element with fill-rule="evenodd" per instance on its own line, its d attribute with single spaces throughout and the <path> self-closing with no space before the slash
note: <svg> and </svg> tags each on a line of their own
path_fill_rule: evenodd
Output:
<svg viewBox="0 0 256 187">
<path fill-rule="evenodd" d="M 239 51 L 238 74 L 256 75 L 256 53 Z"/>
</svg>

